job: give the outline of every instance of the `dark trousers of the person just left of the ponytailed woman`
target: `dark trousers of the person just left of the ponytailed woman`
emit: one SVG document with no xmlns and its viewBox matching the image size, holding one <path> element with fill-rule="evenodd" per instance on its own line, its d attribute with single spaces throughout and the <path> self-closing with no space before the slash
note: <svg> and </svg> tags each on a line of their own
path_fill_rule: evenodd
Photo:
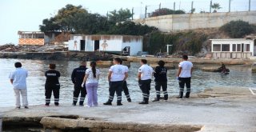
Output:
<svg viewBox="0 0 256 132">
<path fill-rule="evenodd" d="M 86 87 L 82 87 L 82 84 L 74 84 L 74 92 L 73 92 L 73 104 L 76 105 L 78 102 L 78 97 L 80 94 L 80 102 L 79 105 L 83 105 L 83 102 L 86 98 Z"/>
</svg>

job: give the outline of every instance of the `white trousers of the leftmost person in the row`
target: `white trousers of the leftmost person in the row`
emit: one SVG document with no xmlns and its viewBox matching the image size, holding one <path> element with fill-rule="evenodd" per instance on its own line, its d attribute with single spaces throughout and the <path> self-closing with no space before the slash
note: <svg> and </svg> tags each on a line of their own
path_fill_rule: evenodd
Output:
<svg viewBox="0 0 256 132">
<path fill-rule="evenodd" d="M 27 102 L 27 91 L 26 89 L 14 89 L 14 94 L 16 97 L 16 106 L 21 106 L 20 95 L 22 95 L 22 104 L 23 106 L 28 106 Z"/>
</svg>

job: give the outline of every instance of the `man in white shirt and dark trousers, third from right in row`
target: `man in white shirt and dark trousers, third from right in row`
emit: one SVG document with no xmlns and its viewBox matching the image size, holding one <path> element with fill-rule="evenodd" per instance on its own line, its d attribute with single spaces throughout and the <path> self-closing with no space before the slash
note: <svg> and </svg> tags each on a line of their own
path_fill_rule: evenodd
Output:
<svg viewBox="0 0 256 132">
<path fill-rule="evenodd" d="M 146 59 L 141 60 L 141 67 L 138 69 L 138 86 L 142 90 L 143 101 L 139 104 L 148 104 L 150 98 L 150 83 L 153 74 L 153 68 L 148 66 Z"/>
</svg>

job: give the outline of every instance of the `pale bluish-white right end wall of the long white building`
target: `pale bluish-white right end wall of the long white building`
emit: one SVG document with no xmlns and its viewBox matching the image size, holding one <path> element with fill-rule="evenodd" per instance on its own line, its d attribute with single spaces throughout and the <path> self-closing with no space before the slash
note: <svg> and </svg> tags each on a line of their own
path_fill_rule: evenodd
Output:
<svg viewBox="0 0 256 132">
<path fill-rule="evenodd" d="M 133 42 L 123 42 L 122 49 L 126 46 L 130 46 L 130 55 L 137 56 L 138 51 L 142 51 L 142 40 Z"/>
</svg>

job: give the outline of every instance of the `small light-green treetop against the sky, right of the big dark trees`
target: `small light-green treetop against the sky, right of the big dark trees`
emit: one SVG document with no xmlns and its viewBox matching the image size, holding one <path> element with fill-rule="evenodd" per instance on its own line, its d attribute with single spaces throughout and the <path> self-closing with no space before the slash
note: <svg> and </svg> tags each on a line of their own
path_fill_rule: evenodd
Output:
<svg viewBox="0 0 256 132">
<path fill-rule="evenodd" d="M 123 10 L 122 8 L 120 10 L 113 10 L 110 11 L 110 14 L 108 14 L 108 18 L 110 22 L 113 22 L 114 24 L 116 22 L 125 22 L 126 20 L 130 19 L 133 14 L 130 13 L 129 9 Z"/>
</svg>

